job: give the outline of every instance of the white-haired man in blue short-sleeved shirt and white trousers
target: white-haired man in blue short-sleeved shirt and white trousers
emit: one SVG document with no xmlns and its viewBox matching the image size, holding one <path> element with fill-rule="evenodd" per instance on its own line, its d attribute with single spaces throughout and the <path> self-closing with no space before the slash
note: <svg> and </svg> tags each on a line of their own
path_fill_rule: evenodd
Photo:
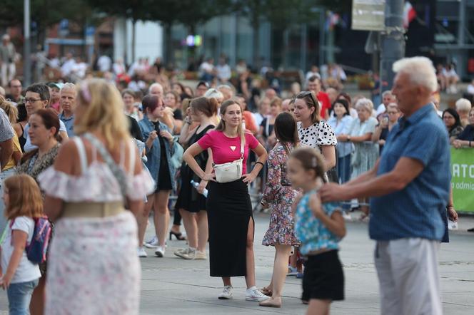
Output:
<svg viewBox="0 0 474 315">
<path fill-rule="evenodd" d="M 370 238 L 380 283 L 381 314 L 442 314 L 438 248 L 449 198 L 450 150 L 430 96 L 435 68 L 425 57 L 403 58 L 392 93 L 403 113 L 373 170 L 346 185 L 325 185 L 323 202 L 372 197 Z"/>
</svg>

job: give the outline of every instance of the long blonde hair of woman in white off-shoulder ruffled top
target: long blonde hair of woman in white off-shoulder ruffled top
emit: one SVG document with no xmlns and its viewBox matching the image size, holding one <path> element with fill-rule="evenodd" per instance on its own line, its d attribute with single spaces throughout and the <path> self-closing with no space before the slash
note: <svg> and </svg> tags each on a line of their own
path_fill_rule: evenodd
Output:
<svg viewBox="0 0 474 315">
<path fill-rule="evenodd" d="M 109 149 L 130 138 L 128 121 L 123 114 L 123 100 L 119 90 L 104 79 L 83 81 L 78 93 L 79 104 L 86 107 L 79 121 L 76 118 L 76 135 L 99 131 Z"/>
</svg>

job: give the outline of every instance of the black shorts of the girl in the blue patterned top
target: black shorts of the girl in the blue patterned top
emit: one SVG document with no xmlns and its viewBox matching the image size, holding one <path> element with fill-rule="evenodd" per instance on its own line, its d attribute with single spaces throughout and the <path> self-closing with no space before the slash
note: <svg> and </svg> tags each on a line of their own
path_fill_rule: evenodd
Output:
<svg viewBox="0 0 474 315">
<path fill-rule="evenodd" d="M 337 250 L 308 256 L 301 299 L 303 301 L 344 299 L 344 273 Z"/>
</svg>

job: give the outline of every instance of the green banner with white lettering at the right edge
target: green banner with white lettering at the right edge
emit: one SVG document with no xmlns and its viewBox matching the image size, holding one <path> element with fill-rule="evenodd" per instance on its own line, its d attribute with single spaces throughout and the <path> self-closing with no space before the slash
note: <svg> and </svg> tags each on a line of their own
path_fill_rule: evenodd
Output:
<svg viewBox="0 0 474 315">
<path fill-rule="evenodd" d="M 454 208 L 474 213 L 474 149 L 451 148 Z"/>
</svg>

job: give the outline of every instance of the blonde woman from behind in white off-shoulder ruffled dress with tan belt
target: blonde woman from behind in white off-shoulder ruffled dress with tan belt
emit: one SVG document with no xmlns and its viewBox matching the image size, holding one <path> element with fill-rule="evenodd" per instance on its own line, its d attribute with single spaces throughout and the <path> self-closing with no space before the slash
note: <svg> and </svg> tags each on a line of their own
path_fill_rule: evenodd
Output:
<svg viewBox="0 0 474 315">
<path fill-rule="evenodd" d="M 64 143 L 54 166 L 39 175 L 46 215 L 56 222 L 45 314 L 138 314 L 133 215 L 142 214 L 154 183 L 128 134 L 119 91 L 92 79 L 81 85 L 77 100 L 79 136 Z"/>
</svg>

